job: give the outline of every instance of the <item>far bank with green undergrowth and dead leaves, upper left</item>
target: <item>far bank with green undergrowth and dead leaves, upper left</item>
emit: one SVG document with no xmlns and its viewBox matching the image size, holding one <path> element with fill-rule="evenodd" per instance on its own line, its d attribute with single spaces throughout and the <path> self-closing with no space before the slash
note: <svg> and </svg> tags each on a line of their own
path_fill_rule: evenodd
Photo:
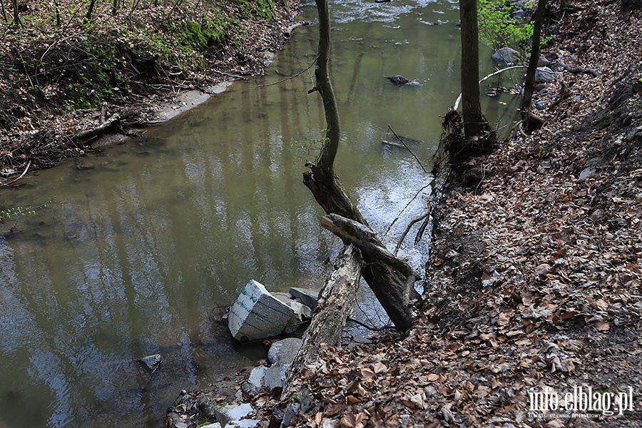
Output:
<svg viewBox="0 0 642 428">
<path fill-rule="evenodd" d="M 88 2 L 58 0 L 57 23 L 53 3 L 19 4 L 0 39 L 0 185 L 262 74 L 297 14 L 290 0 L 99 1 L 86 19 Z"/>
</svg>

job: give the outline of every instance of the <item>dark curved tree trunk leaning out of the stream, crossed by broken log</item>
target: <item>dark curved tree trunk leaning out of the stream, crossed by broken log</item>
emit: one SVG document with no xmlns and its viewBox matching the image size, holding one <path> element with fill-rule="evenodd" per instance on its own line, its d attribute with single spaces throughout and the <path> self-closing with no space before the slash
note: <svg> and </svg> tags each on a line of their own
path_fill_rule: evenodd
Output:
<svg viewBox="0 0 642 428">
<path fill-rule="evenodd" d="M 317 157 L 316 164 L 306 163 L 310 171 L 303 174 L 303 183 L 310 188 L 317 203 L 327 214 L 335 213 L 345 218 L 356 220 L 358 223 L 367 225 L 365 218 L 342 185 L 334 172 L 334 161 L 339 148 L 340 123 L 335 93 L 332 89 L 330 76 L 328 74 L 327 62 L 330 57 L 330 14 L 327 0 L 315 0 L 319 13 L 320 39 L 317 66 L 315 69 L 316 85 L 312 91 L 318 91 L 321 95 L 325 108 L 327 122 L 326 139 Z M 384 245 L 376 238 L 379 247 Z M 344 240 L 344 242 L 350 242 Z M 357 247 L 360 247 L 356 243 Z M 362 249 L 362 248 L 360 248 Z M 408 266 L 403 260 L 397 258 L 393 264 L 377 259 L 372 254 L 364 254 L 365 269 L 362 275 L 370 288 L 377 296 L 390 320 L 398 330 L 406 331 L 412 327 L 412 315 L 409 309 L 409 297 L 417 296 L 414 290 L 414 281 L 421 279 L 412 268 L 401 271 L 398 265 Z M 409 267 L 409 266 L 408 266 Z M 407 272 L 411 272 L 408 275 Z M 406 272 L 406 273 L 404 273 Z"/>
</svg>

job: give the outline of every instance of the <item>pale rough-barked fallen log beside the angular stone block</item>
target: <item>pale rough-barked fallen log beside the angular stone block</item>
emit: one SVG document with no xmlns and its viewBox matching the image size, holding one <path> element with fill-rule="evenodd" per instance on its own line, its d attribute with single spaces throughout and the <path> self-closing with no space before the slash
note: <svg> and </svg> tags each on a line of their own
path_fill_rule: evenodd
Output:
<svg viewBox="0 0 642 428">
<path fill-rule="evenodd" d="M 319 293 L 319 303 L 310 326 L 305 330 L 303 345 L 287 369 L 282 397 L 287 397 L 293 382 L 315 360 L 322 343 L 332 347 L 341 344 L 341 334 L 347 317 L 352 314 L 361 277 L 362 258 L 354 245 L 343 248 L 332 275 Z"/>
</svg>

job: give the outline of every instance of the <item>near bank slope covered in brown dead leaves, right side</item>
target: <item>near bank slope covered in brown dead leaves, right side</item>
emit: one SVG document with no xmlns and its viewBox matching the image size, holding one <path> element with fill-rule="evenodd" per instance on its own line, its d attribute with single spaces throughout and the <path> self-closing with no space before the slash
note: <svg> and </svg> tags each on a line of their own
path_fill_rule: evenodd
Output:
<svg viewBox="0 0 642 428">
<path fill-rule="evenodd" d="M 543 54 L 599 76 L 556 73 L 543 128 L 449 177 L 414 328 L 326 348 L 254 398 L 266 426 L 642 426 L 642 10 L 576 6 Z"/>
</svg>

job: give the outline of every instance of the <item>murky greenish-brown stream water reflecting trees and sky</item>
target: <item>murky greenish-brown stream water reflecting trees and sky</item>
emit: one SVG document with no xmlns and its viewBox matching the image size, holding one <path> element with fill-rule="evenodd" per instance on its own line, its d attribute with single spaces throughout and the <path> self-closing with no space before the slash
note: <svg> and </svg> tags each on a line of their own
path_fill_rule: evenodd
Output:
<svg viewBox="0 0 642 428">
<path fill-rule="evenodd" d="M 337 173 L 393 248 L 424 210 L 429 177 L 382 141 L 394 140 L 388 126 L 417 140 L 409 147 L 429 169 L 439 116 L 459 93 L 456 7 L 333 6 Z M 310 6 L 305 18 L 315 21 Z M 1 191 L 0 209 L 36 214 L 0 224 L 0 427 L 156 427 L 180 389 L 264 356 L 211 320 L 248 280 L 320 287 L 339 243 L 318 225 L 301 180 L 324 126 L 318 94 L 307 94 L 312 72 L 258 87 L 307 67 L 316 34 L 298 29 L 264 78 L 235 83 L 146 138 Z M 394 86 L 384 78 L 394 74 L 420 86 Z M 484 99 L 489 118 L 510 118 L 501 101 L 510 100 Z M 421 269 L 426 244 L 400 254 Z M 381 317 L 362 293 L 362 316 Z M 156 353 L 163 363 L 149 374 L 136 359 Z"/>
</svg>

